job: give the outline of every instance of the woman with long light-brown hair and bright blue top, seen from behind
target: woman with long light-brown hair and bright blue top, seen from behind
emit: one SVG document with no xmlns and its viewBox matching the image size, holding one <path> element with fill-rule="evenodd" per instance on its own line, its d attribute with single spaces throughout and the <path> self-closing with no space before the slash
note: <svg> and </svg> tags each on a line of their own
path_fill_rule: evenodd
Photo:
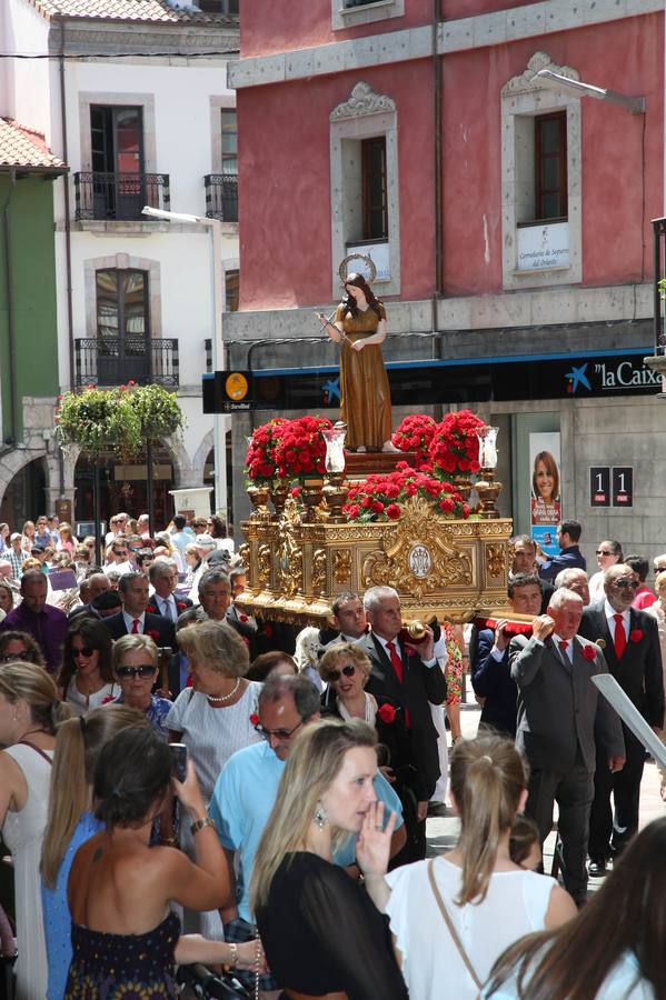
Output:
<svg viewBox="0 0 666 1000">
<path fill-rule="evenodd" d="M 56 737 L 49 814 L 41 854 L 41 899 L 49 980 L 48 1000 L 62 1000 L 71 961 L 71 916 L 67 880 L 74 854 L 102 829 L 92 813 L 92 778 L 101 748 L 130 726 L 146 726 L 137 709 L 109 704 L 92 709 L 86 719 L 63 722 Z"/>
</svg>

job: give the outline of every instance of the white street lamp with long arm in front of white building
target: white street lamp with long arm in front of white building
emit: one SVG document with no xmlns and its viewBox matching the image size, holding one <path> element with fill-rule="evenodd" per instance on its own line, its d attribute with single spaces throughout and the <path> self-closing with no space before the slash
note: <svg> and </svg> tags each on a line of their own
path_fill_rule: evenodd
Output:
<svg viewBox="0 0 666 1000">
<path fill-rule="evenodd" d="M 185 212 L 169 212 L 165 209 L 155 209 L 147 204 L 141 209 L 142 216 L 150 219 L 165 219 L 167 222 L 198 222 L 207 226 L 210 232 L 210 282 L 212 288 L 212 368 L 213 371 L 223 371 L 225 339 L 222 330 L 222 311 L 225 308 L 222 286 L 222 229 L 219 219 L 209 219 L 208 216 L 190 216 Z M 221 413 L 212 417 L 212 448 L 215 454 L 215 509 L 217 513 L 227 520 L 227 437 L 226 421 Z"/>
</svg>

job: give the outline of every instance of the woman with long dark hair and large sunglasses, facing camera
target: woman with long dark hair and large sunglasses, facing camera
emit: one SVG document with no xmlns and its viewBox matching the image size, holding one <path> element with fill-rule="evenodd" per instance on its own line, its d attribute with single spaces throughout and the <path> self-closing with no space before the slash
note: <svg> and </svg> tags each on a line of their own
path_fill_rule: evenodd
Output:
<svg viewBox="0 0 666 1000">
<path fill-rule="evenodd" d="M 85 716 L 120 693 L 111 650 L 111 637 L 97 618 L 80 616 L 69 627 L 59 683 L 76 716 Z"/>
</svg>

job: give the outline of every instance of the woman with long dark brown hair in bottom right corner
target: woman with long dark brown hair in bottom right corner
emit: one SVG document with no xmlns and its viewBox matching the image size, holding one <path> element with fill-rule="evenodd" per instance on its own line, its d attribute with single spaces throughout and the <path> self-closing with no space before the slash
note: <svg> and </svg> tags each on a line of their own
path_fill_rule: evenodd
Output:
<svg viewBox="0 0 666 1000">
<path fill-rule="evenodd" d="M 630 841 L 575 920 L 530 934 L 496 962 L 493 1000 L 666 997 L 666 819 Z"/>
</svg>

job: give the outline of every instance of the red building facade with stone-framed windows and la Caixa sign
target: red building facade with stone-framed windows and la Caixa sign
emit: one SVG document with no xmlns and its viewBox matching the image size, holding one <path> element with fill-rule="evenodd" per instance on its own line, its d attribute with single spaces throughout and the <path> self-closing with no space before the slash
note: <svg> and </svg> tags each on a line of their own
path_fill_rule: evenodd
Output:
<svg viewBox="0 0 666 1000">
<path fill-rule="evenodd" d="M 664 4 L 439 8 L 311 0 L 287 19 L 243 4 L 229 69 L 243 280 L 226 337 L 256 374 L 250 419 L 271 401 L 337 414 L 337 357 L 314 311 L 339 300 L 340 261 L 370 253 L 394 427 L 470 407 L 500 428 L 500 507 L 517 530 L 538 527 L 533 472 L 551 451 L 557 512 L 585 523 L 588 556 L 607 537 L 656 554 L 666 412 L 643 358 Z M 235 418 L 235 454 L 249 424 Z"/>
</svg>

